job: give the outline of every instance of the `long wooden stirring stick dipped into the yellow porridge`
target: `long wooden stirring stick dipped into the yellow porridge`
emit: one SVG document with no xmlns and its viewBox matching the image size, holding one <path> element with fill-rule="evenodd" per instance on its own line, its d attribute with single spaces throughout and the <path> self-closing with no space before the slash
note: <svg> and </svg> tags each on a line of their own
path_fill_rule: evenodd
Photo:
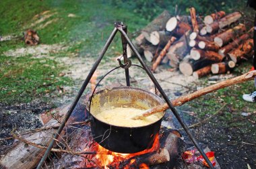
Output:
<svg viewBox="0 0 256 169">
<path fill-rule="evenodd" d="M 174 107 L 181 106 L 184 103 L 187 103 L 188 101 L 196 99 L 197 97 L 201 97 L 202 95 L 206 95 L 207 93 L 212 93 L 213 91 L 217 91 L 218 89 L 229 87 L 231 85 L 238 84 L 241 82 L 246 82 L 248 80 L 253 80 L 255 78 L 255 76 L 256 76 L 256 70 L 253 70 L 253 71 L 247 72 L 246 74 L 243 74 L 241 76 L 237 76 L 234 78 L 230 78 L 228 80 L 224 80 L 222 82 L 218 82 L 216 84 L 211 85 L 210 87 L 205 87 L 205 88 L 200 89 L 199 91 L 195 91 L 194 93 L 191 93 L 189 95 L 185 95 L 183 97 L 174 99 L 171 101 L 171 103 Z M 135 117 L 131 117 L 131 118 L 132 119 L 144 119 L 145 117 L 154 115 L 161 111 L 165 111 L 166 109 L 169 109 L 169 106 L 167 105 L 167 103 L 164 103 L 162 105 L 153 107 L 152 109 L 143 111 L 143 113 L 141 115 L 136 115 Z"/>
</svg>

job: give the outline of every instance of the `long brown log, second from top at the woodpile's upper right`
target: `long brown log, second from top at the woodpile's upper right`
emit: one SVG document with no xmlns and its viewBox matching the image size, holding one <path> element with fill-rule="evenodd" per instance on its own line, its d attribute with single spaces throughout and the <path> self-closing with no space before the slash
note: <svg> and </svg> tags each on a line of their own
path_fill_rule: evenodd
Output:
<svg viewBox="0 0 256 169">
<path fill-rule="evenodd" d="M 230 13 L 229 15 L 222 17 L 222 19 L 220 19 L 220 21 L 214 21 L 210 25 L 207 25 L 206 31 L 210 34 L 214 34 L 214 32 L 217 32 L 219 29 L 222 29 L 223 27 L 226 27 L 227 25 L 234 23 L 241 17 L 242 17 L 242 15 L 240 12 Z"/>
</svg>

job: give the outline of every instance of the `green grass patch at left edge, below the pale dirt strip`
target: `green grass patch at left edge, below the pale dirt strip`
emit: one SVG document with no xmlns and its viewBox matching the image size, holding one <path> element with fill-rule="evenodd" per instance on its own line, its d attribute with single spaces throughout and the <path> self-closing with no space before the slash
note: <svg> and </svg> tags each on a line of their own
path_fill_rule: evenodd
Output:
<svg viewBox="0 0 256 169">
<path fill-rule="evenodd" d="M 46 95 L 60 95 L 57 86 L 72 84 L 54 60 L 36 59 L 30 56 L 0 58 L 0 102 L 28 103 L 36 97 L 46 99 Z"/>
</svg>

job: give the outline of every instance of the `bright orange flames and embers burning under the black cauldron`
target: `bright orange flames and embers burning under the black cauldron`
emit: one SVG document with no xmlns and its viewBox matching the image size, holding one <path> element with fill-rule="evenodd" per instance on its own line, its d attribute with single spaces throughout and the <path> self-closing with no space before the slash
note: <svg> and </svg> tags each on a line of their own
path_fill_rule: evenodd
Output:
<svg viewBox="0 0 256 169">
<path fill-rule="evenodd" d="M 106 150 L 99 144 L 96 144 L 94 146 L 94 150 L 98 152 L 98 154 L 95 156 L 95 162 L 98 166 L 104 166 L 104 168 L 108 168 L 108 166 L 115 166 L 116 168 L 119 167 L 119 162 L 122 162 L 124 160 L 129 159 L 129 163 L 123 166 L 123 168 L 129 168 L 129 166 L 136 164 L 136 160 L 133 159 L 134 156 L 139 156 L 141 154 L 146 154 L 149 152 L 154 152 L 160 148 L 159 144 L 159 135 L 156 135 L 156 138 L 154 139 L 154 143 L 152 145 L 152 148 L 143 150 L 141 152 L 133 153 L 133 154 L 121 154 L 117 152 L 111 152 L 109 150 Z M 146 164 L 139 164 L 139 168 L 149 168 Z"/>
</svg>

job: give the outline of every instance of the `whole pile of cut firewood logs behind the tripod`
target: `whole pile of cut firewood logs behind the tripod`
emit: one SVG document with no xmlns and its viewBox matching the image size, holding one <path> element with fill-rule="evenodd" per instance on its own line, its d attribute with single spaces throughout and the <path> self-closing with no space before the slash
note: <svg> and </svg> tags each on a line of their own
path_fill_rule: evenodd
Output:
<svg viewBox="0 0 256 169">
<path fill-rule="evenodd" d="M 152 63 L 153 72 L 159 64 L 169 64 L 195 78 L 229 73 L 253 56 L 253 29 L 239 23 L 241 17 L 240 12 L 224 11 L 201 17 L 193 7 L 190 15 L 176 17 L 163 11 L 141 30 L 133 44 Z"/>
</svg>

